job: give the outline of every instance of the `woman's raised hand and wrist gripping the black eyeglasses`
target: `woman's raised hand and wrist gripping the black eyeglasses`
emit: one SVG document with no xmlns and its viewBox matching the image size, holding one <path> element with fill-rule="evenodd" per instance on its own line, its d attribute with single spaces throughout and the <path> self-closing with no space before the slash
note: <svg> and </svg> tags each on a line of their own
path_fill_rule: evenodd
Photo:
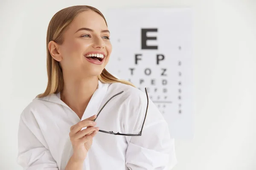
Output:
<svg viewBox="0 0 256 170">
<path fill-rule="evenodd" d="M 96 122 L 93 122 L 95 118 L 96 115 L 91 116 L 70 127 L 69 135 L 73 147 L 73 161 L 83 162 L 86 158 L 93 143 L 93 137 L 99 131 L 99 127 L 94 127 L 96 125 Z M 81 130 L 83 127 L 87 128 Z"/>
</svg>

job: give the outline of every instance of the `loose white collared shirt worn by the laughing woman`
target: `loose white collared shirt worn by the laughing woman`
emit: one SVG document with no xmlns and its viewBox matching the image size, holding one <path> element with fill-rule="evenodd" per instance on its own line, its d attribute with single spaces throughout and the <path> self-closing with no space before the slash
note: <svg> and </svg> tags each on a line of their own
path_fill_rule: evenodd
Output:
<svg viewBox="0 0 256 170">
<path fill-rule="evenodd" d="M 105 105 L 96 126 L 105 131 L 139 133 L 146 94 L 130 85 L 99 81 L 81 119 L 60 99 L 60 93 L 33 99 L 20 116 L 18 164 L 26 170 L 64 170 L 73 154 L 70 127 L 97 114 L 121 91 Z M 167 170 L 168 164 L 176 164 L 174 139 L 170 139 L 166 121 L 149 99 L 142 136 L 98 132 L 83 170 Z"/>
</svg>

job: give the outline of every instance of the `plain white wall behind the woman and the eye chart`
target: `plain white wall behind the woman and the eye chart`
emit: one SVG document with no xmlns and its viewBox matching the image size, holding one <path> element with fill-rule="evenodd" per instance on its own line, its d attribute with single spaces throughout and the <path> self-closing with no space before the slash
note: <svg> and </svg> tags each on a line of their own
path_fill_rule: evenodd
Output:
<svg viewBox="0 0 256 170">
<path fill-rule="evenodd" d="M 53 14 L 73 5 L 103 14 L 113 7 L 191 7 L 195 136 L 176 140 L 174 170 L 256 169 L 256 0 L 1 0 L 1 170 L 21 169 L 18 121 L 47 84 L 47 26 Z"/>
</svg>

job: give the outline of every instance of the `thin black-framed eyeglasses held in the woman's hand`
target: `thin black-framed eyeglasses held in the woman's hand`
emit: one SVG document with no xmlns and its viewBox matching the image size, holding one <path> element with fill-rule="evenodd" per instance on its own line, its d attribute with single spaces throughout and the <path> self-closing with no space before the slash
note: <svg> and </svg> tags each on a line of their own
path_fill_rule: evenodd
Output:
<svg viewBox="0 0 256 170">
<path fill-rule="evenodd" d="M 118 94 L 115 94 L 114 96 L 112 96 L 110 99 L 108 99 L 108 101 L 102 106 L 102 108 L 100 109 L 99 113 L 101 113 L 102 109 L 105 107 L 105 105 L 107 105 L 107 103 L 113 99 L 113 97 L 119 95 L 119 94 L 122 94 L 124 91 L 121 91 L 119 92 Z M 148 93 L 147 93 L 147 89 L 145 88 L 145 92 L 146 92 L 146 95 L 147 95 L 147 108 L 146 108 L 146 113 L 145 113 L 145 118 L 144 118 L 144 121 L 143 121 L 143 124 L 142 124 L 142 127 L 141 127 L 141 130 L 138 134 L 131 134 L 131 133 L 114 133 L 113 131 L 105 131 L 105 130 L 99 130 L 99 132 L 102 132 L 102 133 L 109 133 L 109 134 L 113 134 L 113 135 L 122 135 L 122 136 L 141 136 L 142 135 L 142 130 L 143 130 L 143 126 L 144 126 L 144 123 L 145 123 L 145 119 L 146 119 L 146 116 L 147 116 L 147 112 L 148 112 Z M 97 114 L 97 117 L 93 120 L 95 122 L 95 120 L 98 118 L 99 116 L 99 113 Z"/>
</svg>

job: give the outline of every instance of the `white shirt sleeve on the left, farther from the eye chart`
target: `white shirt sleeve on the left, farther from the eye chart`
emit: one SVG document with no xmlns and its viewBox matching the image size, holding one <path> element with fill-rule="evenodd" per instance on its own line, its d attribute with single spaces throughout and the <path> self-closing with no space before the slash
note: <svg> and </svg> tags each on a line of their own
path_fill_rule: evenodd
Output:
<svg viewBox="0 0 256 170">
<path fill-rule="evenodd" d="M 17 163 L 24 170 L 58 170 L 33 114 L 20 116 Z"/>
</svg>

